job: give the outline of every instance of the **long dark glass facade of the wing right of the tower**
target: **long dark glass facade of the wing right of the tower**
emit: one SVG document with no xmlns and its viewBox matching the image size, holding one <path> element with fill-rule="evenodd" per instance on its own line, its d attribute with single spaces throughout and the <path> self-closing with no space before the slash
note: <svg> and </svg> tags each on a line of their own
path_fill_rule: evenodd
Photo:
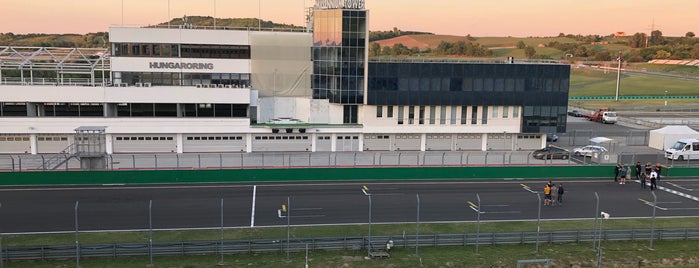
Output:
<svg viewBox="0 0 699 268">
<path fill-rule="evenodd" d="M 473 106 L 474 113 L 476 106 L 519 106 L 522 132 L 566 130 L 568 65 L 369 62 L 368 66 L 368 105 Z"/>
</svg>

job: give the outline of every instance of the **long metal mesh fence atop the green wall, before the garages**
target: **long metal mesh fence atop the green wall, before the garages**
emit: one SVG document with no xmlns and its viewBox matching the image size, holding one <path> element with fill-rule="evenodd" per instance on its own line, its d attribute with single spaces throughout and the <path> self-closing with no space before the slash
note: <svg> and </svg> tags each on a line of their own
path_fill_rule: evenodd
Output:
<svg viewBox="0 0 699 268">
<path fill-rule="evenodd" d="M 44 164 L 55 158 L 61 163 L 53 170 L 80 169 L 80 160 L 66 154 L 0 155 L 0 171 L 45 171 L 54 166 Z M 636 162 L 660 163 L 666 167 L 699 166 L 699 161 L 671 160 L 662 153 L 620 152 L 593 157 L 573 152 L 556 159 L 537 159 L 531 151 L 488 152 L 315 152 L 315 153 L 163 153 L 111 154 L 106 157 L 108 170 L 134 169 L 267 169 L 267 168 L 347 168 L 347 167 L 447 167 L 447 166 L 560 166 L 598 165 Z"/>
</svg>

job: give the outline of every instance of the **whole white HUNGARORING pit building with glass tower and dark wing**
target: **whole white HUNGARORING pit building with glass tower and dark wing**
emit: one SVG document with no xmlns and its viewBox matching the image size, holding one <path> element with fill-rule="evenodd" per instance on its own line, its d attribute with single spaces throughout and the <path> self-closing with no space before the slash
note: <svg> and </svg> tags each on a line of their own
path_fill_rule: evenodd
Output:
<svg viewBox="0 0 699 268">
<path fill-rule="evenodd" d="M 364 1 L 304 30 L 112 27 L 107 49 L 0 47 L 0 153 L 530 150 L 566 131 L 568 65 L 370 59 Z"/>
</svg>

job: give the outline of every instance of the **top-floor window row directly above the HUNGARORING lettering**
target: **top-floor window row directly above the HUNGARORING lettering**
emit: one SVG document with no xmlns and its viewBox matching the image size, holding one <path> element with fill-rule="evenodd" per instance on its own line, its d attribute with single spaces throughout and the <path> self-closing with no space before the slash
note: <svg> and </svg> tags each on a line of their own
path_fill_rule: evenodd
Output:
<svg viewBox="0 0 699 268">
<path fill-rule="evenodd" d="M 247 45 L 112 43 L 115 57 L 250 59 Z"/>
</svg>

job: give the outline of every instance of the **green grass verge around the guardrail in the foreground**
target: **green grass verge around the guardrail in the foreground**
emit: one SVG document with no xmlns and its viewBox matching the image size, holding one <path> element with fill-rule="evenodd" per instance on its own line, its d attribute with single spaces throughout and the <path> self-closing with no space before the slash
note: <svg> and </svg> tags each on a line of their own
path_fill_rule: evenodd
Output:
<svg viewBox="0 0 699 268">
<path fill-rule="evenodd" d="M 605 229 L 650 228 L 650 219 L 610 219 L 606 220 Z M 367 225 L 349 226 L 316 226 L 293 227 L 292 236 L 323 237 L 323 236 L 359 236 L 367 233 Z M 697 218 L 679 218 L 656 220 L 657 228 L 699 227 Z M 542 221 L 542 231 L 592 229 L 592 220 L 571 221 Z M 533 231 L 535 221 L 523 222 L 482 222 L 481 232 L 518 232 Z M 430 233 L 473 233 L 476 224 L 467 223 L 429 223 L 420 225 L 421 234 Z M 412 234 L 415 224 L 374 224 L 372 234 Z M 286 236 L 286 228 L 239 228 L 226 229 L 224 239 L 265 239 Z M 217 240 L 219 230 L 197 231 L 156 231 L 154 241 L 191 241 Z M 39 244 L 73 244 L 75 236 L 72 233 L 58 235 L 5 235 L 4 246 L 39 245 Z M 113 243 L 113 242 L 145 242 L 148 232 L 119 232 L 119 233 L 81 233 L 81 243 Z M 648 241 L 635 242 L 603 242 L 604 267 L 637 267 L 639 262 L 643 267 L 699 267 L 699 241 L 655 241 L 654 251 L 648 250 Z M 595 251 L 592 244 L 565 243 L 549 244 L 542 242 L 539 252 L 534 252 L 534 244 L 480 246 L 479 253 L 475 247 L 421 247 L 419 255 L 415 248 L 396 247 L 390 259 L 366 260 L 366 252 L 360 251 L 325 251 L 312 250 L 309 252 L 309 267 L 515 267 L 517 260 L 551 259 L 552 267 L 594 267 L 596 265 Z M 284 252 L 266 254 L 227 254 L 197 256 L 155 256 L 152 267 L 199 268 L 199 267 L 303 267 L 305 253 L 291 253 L 286 259 Z M 148 257 L 119 257 L 119 258 L 83 258 L 80 267 L 148 267 Z M 6 267 L 74 267 L 76 260 L 52 261 L 11 261 Z"/>
</svg>

